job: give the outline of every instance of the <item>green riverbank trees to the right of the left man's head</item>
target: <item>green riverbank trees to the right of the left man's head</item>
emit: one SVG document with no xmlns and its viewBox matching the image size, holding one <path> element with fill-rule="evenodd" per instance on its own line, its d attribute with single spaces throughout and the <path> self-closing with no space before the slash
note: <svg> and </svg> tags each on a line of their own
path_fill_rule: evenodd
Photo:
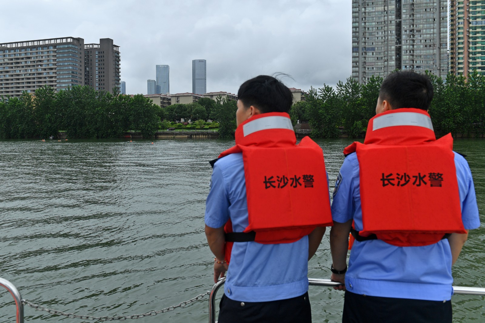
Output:
<svg viewBox="0 0 485 323">
<path fill-rule="evenodd" d="M 429 109 L 437 135 L 451 132 L 465 137 L 485 134 L 485 77 L 476 71 L 468 76 L 449 74 L 446 80 L 426 72 L 435 95 Z M 306 101 L 291 108 L 293 124 L 308 121 L 313 138 L 337 138 L 342 133 L 355 138 L 364 134 L 383 79 L 372 77 L 365 84 L 353 78 L 339 81 L 336 88 L 310 88 Z"/>
</svg>

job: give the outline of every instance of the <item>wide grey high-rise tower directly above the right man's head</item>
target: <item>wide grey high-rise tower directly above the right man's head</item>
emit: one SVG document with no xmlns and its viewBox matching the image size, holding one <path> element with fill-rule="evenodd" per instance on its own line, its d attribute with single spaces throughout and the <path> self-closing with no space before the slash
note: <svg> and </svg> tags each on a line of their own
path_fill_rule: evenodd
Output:
<svg viewBox="0 0 485 323">
<path fill-rule="evenodd" d="M 352 0 L 352 77 L 448 73 L 447 0 Z"/>
</svg>

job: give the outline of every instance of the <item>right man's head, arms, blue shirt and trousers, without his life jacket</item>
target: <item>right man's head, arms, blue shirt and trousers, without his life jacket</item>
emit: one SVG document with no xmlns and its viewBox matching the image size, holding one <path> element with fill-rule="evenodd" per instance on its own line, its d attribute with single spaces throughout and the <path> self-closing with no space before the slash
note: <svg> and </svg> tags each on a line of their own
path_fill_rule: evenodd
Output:
<svg viewBox="0 0 485 323">
<path fill-rule="evenodd" d="M 424 110 L 427 110 L 432 97 L 433 87 L 427 76 L 395 72 L 382 84 L 376 114 L 394 109 L 405 111 L 416 107 L 414 102 L 425 102 Z M 468 232 L 480 226 L 473 179 L 465 158 L 454 153 L 454 164 L 461 218 Z M 379 196 L 371 202 L 386 203 Z M 353 223 L 356 231 L 363 229 L 356 153 L 346 156 L 340 169 L 333 193 L 332 217 L 331 278 L 345 284 L 336 289 L 346 290 L 342 322 L 452 322 L 451 267 L 468 233 L 453 233 L 447 239 L 424 246 L 401 247 L 382 240 L 355 241 L 347 269 L 349 232 Z"/>
</svg>

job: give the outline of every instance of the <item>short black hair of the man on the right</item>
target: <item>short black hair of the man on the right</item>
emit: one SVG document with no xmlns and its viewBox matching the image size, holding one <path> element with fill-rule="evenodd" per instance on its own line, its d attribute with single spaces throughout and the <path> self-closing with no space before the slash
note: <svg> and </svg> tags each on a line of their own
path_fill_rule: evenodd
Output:
<svg viewBox="0 0 485 323">
<path fill-rule="evenodd" d="M 433 99 L 433 84 L 426 74 L 397 71 L 384 79 L 379 97 L 388 101 L 392 109 L 428 110 Z"/>
</svg>

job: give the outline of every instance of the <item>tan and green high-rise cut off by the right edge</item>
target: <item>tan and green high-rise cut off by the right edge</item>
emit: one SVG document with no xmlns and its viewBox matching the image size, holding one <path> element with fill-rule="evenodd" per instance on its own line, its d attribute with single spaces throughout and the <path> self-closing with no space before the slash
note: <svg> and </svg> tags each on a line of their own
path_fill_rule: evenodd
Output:
<svg viewBox="0 0 485 323">
<path fill-rule="evenodd" d="M 485 75 L 485 1 L 450 0 L 450 73 Z"/>
</svg>

